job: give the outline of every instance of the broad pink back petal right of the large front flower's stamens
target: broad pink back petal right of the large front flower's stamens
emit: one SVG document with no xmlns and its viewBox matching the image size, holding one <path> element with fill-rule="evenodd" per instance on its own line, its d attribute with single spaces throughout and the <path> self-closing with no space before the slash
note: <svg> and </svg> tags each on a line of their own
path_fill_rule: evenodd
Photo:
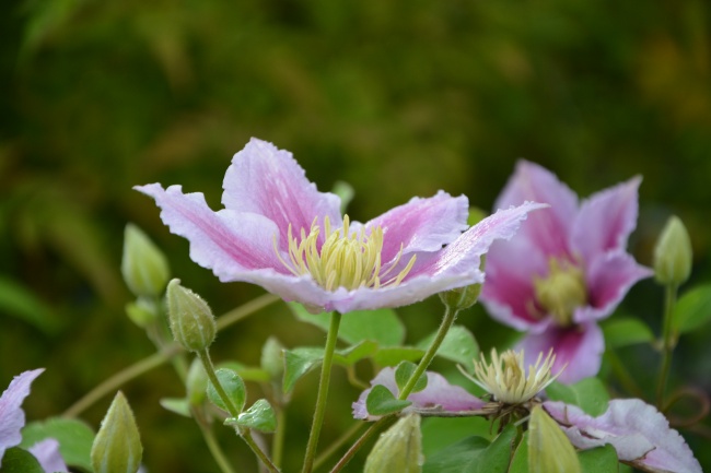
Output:
<svg viewBox="0 0 711 473">
<path fill-rule="evenodd" d="M 383 263 L 403 253 L 439 251 L 467 229 L 469 204 L 466 197 L 451 197 L 440 191 L 436 196 L 412 198 L 365 224 L 366 228 L 383 228 Z M 403 257 L 407 263 L 408 258 Z"/>
</svg>

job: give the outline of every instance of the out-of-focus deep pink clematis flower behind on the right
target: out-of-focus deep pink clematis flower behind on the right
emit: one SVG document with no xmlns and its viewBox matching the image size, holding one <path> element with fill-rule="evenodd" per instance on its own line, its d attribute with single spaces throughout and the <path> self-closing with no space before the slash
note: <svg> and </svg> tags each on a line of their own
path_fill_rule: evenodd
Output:
<svg viewBox="0 0 711 473">
<path fill-rule="evenodd" d="M 496 205 L 535 200 L 550 209 L 532 215 L 515 238 L 491 247 L 481 300 L 494 319 L 527 332 L 518 344 L 526 365 L 552 348 L 553 371 L 567 365 L 561 382 L 599 370 L 605 342 L 597 321 L 652 274 L 626 251 L 640 181 L 632 178 L 579 204 L 550 172 L 518 162 Z"/>
</svg>

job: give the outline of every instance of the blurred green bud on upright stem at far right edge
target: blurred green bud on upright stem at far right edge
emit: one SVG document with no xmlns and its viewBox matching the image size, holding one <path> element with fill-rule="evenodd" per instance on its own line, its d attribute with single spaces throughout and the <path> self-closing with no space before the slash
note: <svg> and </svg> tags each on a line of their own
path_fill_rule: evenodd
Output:
<svg viewBox="0 0 711 473">
<path fill-rule="evenodd" d="M 676 215 L 666 222 L 654 247 L 654 275 L 661 284 L 681 285 L 691 273 L 691 239 Z"/>
</svg>

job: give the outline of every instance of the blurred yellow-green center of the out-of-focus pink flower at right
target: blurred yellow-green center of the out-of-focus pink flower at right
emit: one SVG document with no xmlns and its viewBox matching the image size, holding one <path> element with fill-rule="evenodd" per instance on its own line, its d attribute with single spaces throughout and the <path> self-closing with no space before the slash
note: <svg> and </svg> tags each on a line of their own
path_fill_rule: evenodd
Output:
<svg viewBox="0 0 711 473">
<path fill-rule="evenodd" d="M 583 270 L 568 260 L 551 258 L 546 277 L 534 276 L 534 291 L 538 304 L 550 314 L 560 327 L 569 327 L 575 308 L 587 301 Z"/>
</svg>

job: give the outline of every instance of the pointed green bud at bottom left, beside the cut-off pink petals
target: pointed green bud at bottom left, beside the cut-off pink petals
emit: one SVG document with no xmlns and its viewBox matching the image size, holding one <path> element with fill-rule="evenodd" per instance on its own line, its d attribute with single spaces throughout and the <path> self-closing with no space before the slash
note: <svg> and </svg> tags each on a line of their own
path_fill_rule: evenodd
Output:
<svg viewBox="0 0 711 473">
<path fill-rule="evenodd" d="M 131 407 L 118 391 L 91 449 L 95 473 L 136 473 L 143 447 Z"/>
</svg>

